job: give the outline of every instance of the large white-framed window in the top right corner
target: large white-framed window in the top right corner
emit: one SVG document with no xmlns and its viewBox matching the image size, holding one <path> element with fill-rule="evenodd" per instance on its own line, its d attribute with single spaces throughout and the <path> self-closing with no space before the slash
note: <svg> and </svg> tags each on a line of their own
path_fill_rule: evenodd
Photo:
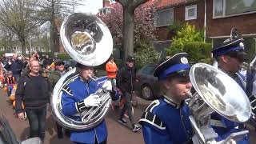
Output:
<svg viewBox="0 0 256 144">
<path fill-rule="evenodd" d="M 256 12 L 256 0 L 214 0 L 214 18 Z"/>
</svg>

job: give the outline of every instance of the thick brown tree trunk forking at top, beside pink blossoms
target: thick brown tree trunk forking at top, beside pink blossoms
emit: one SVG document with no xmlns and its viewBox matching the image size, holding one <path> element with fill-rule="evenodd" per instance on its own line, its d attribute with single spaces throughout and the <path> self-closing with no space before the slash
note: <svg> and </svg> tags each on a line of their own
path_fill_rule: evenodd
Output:
<svg viewBox="0 0 256 144">
<path fill-rule="evenodd" d="M 117 0 L 123 8 L 123 42 L 125 59 L 134 54 L 134 10 L 149 0 Z"/>
</svg>

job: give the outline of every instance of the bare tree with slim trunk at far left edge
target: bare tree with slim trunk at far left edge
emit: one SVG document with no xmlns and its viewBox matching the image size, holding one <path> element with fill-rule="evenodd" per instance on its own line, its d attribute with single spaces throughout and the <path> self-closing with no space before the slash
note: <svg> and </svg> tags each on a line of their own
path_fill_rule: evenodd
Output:
<svg viewBox="0 0 256 144">
<path fill-rule="evenodd" d="M 38 18 L 39 0 L 1 0 L 0 24 L 17 34 L 26 54 L 26 37 L 30 31 L 42 25 Z"/>
</svg>

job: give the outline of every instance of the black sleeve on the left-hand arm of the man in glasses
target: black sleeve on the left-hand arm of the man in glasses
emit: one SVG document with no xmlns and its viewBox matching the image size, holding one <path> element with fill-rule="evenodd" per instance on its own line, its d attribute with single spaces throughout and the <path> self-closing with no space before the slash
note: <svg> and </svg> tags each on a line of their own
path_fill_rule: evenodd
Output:
<svg viewBox="0 0 256 144">
<path fill-rule="evenodd" d="M 17 90 L 15 92 L 15 111 L 16 114 L 22 113 L 22 102 L 24 97 L 24 88 L 26 85 L 26 82 L 24 81 L 25 77 L 21 77 L 18 80 Z"/>
</svg>

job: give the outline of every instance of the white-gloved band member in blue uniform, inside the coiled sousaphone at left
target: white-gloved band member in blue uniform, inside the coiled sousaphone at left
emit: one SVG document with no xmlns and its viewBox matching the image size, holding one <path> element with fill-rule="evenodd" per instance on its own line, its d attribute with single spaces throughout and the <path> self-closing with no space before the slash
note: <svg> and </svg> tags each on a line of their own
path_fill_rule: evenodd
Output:
<svg viewBox="0 0 256 144">
<path fill-rule="evenodd" d="M 81 121 L 80 114 L 91 106 L 99 106 L 101 98 L 94 94 L 98 89 L 109 90 L 113 100 L 118 99 L 111 82 L 107 77 L 95 81 L 93 66 L 83 66 L 78 63 L 79 77 L 62 89 L 62 112 L 66 116 Z M 74 143 L 105 144 L 107 139 L 106 122 L 103 120 L 98 126 L 90 130 L 70 130 L 70 140 Z"/>
</svg>

